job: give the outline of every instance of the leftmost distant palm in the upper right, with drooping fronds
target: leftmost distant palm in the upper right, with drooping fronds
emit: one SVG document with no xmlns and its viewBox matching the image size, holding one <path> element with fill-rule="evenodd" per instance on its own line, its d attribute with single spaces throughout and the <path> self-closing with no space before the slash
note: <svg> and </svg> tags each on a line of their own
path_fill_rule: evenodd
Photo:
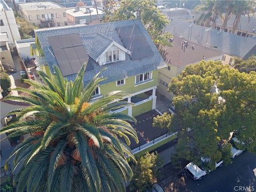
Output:
<svg viewBox="0 0 256 192">
<path fill-rule="evenodd" d="M 205 27 L 216 27 L 218 17 L 222 17 L 226 1 L 206 0 L 195 7 L 196 12 L 201 12 L 197 23 L 204 23 Z M 212 25 L 211 25 L 212 22 Z"/>
</svg>

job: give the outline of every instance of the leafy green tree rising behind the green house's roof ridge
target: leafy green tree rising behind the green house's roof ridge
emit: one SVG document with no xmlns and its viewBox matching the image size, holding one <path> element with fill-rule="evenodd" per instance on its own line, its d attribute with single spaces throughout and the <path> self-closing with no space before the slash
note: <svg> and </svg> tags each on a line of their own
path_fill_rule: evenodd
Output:
<svg viewBox="0 0 256 192">
<path fill-rule="evenodd" d="M 170 33 L 163 33 L 164 27 L 170 22 L 156 7 L 156 0 L 124 0 L 114 3 L 109 1 L 105 11 L 105 22 L 127 19 L 140 19 L 154 43 L 159 47 L 171 46 Z"/>
</svg>

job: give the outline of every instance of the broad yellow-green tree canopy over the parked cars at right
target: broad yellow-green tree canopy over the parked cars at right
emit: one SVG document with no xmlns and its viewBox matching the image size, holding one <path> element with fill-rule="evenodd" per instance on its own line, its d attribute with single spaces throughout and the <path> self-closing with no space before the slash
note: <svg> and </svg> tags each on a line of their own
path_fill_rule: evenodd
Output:
<svg viewBox="0 0 256 192">
<path fill-rule="evenodd" d="M 240 73 L 220 61 L 190 65 L 169 85 L 176 114 L 158 116 L 154 125 L 178 131 L 178 158 L 209 158 L 210 170 L 220 159 L 231 161 L 232 133 L 256 154 L 255 85 L 255 71 Z"/>
</svg>

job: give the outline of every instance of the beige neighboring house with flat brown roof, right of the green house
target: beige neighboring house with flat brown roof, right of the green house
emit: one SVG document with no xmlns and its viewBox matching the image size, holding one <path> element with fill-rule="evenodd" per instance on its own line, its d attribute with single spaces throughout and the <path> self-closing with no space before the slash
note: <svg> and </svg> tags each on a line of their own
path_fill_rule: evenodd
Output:
<svg viewBox="0 0 256 192">
<path fill-rule="evenodd" d="M 221 61 L 223 55 L 223 53 L 176 36 L 173 37 L 172 44 L 172 47 L 162 47 L 164 50 L 162 57 L 167 67 L 159 69 L 159 85 L 157 86 L 157 93 L 168 100 L 173 98 L 173 93 L 167 91 L 172 77 L 178 76 L 188 65 L 198 63 L 201 60 Z"/>
</svg>

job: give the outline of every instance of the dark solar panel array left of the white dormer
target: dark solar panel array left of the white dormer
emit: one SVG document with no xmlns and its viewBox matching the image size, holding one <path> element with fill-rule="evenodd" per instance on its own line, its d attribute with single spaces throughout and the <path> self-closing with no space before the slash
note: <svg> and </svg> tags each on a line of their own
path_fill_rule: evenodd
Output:
<svg viewBox="0 0 256 192">
<path fill-rule="evenodd" d="M 48 39 L 63 76 L 78 73 L 84 63 L 87 64 L 86 71 L 93 69 L 78 34 L 57 35 Z"/>
</svg>

